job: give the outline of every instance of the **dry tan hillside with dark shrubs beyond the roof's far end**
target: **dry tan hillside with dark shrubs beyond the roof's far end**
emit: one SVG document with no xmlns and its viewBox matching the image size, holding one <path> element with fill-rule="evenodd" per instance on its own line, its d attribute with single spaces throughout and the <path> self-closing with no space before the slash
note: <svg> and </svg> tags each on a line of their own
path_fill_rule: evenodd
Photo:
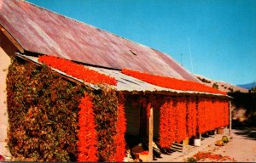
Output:
<svg viewBox="0 0 256 163">
<path fill-rule="evenodd" d="M 197 74 L 195 74 L 194 76 L 197 77 L 203 84 L 209 87 L 218 88 L 218 90 L 226 93 L 234 93 L 234 92 L 248 93 L 248 89 L 244 87 L 235 86 L 228 82 L 213 81 L 211 79 L 208 79 L 205 76 L 201 76 Z"/>
</svg>

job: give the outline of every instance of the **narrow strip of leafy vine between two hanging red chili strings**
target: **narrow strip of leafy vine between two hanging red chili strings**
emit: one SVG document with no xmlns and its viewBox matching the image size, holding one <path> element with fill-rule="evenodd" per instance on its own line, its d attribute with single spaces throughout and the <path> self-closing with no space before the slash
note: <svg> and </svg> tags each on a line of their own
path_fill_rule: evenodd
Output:
<svg viewBox="0 0 256 163">
<path fill-rule="evenodd" d="M 118 97 L 115 91 L 107 87 L 102 87 L 101 92 L 91 96 L 96 115 L 98 158 L 99 161 L 111 161 L 115 152 L 113 136 L 116 134 Z"/>
</svg>

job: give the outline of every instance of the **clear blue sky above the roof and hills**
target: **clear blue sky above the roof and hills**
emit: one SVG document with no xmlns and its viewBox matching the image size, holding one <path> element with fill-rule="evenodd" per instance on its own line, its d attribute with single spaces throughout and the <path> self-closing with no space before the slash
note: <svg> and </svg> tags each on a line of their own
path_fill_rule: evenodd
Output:
<svg viewBox="0 0 256 163">
<path fill-rule="evenodd" d="M 256 82 L 256 0 L 28 0 L 167 53 L 212 80 Z"/>
</svg>

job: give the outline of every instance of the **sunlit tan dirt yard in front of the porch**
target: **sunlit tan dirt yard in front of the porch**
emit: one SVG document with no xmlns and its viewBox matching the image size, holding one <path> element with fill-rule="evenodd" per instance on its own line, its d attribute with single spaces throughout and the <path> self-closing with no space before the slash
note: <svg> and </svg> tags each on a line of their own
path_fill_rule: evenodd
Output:
<svg viewBox="0 0 256 163">
<path fill-rule="evenodd" d="M 200 147 L 189 146 L 183 153 L 174 152 L 172 155 L 162 155 L 161 159 L 154 161 L 160 162 L 181 162 L 186 161 L 189 157 L 198 152 L 211 152 L 213 155 L 229 156 L 232 160 L 228 162 L 256 162 L 256 127 L 245 127 L 233 129 L 230 136 L 230 142 L 224 146 L 216 146 L 215 142 L 222 138 L 223 135 L 214 135 L 211 138 L 205 138 Z M 222 160 L 198 160 L 207 162 L 216 162 Z"/>
</svg>

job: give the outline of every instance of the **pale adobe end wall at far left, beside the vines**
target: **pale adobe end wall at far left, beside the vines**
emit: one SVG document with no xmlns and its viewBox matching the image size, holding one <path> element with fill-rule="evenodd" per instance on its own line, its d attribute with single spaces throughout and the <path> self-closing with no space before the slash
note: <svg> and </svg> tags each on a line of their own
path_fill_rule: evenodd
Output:
<svg viewBox="0 0 256 163">
<path fill-rule="evenodd" d="M 3 156 L 9 156 L 9 150 L 6 148 L 9 127 L 6 102 L 6 76 L 9 65 L 11 64 L 10 56 L 13 56 L 15 51 L 17 51 L 15 46 L 0 31 L 0 155 Z"/>
</svg>

